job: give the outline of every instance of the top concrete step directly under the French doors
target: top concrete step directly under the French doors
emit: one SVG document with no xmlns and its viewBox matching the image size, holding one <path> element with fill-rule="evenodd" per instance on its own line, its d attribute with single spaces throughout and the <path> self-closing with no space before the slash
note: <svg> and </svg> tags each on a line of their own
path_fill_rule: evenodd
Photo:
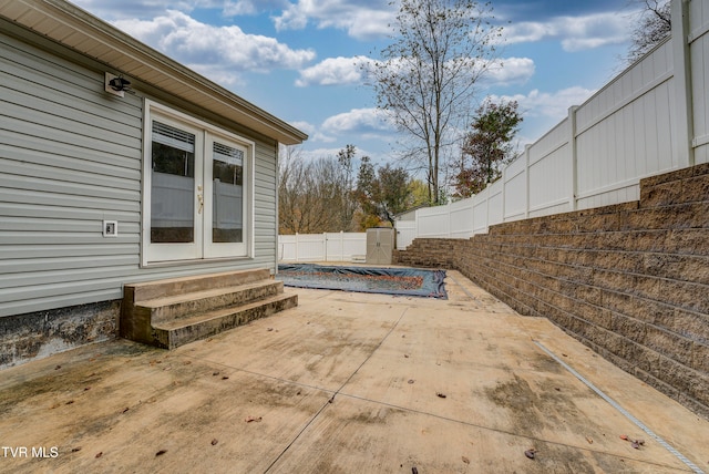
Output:
<svg viewBox="0 0 709 474">
<path fill-rule="evenodd" d="M 225 271 L 192 277 L 169 278 L 165 280 L 127 284 L 124 293 L 133 301 L 146 301 L 156 298 L 178 296 L 216 288 L 236 287 L 270 278 L 268 269 Z"/>
</svg>

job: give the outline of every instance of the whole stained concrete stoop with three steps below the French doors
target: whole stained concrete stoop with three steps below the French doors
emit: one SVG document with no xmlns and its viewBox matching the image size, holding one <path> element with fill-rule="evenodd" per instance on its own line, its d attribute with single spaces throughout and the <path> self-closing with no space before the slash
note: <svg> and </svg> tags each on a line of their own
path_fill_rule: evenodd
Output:
<svg viewBox="0 0 709 474">
<path fill-rule="evenodd" d="M 174 349 L 297 305 L 267 269 L 131 284 L 123 288 L 120 333 Z"/>
</svg>

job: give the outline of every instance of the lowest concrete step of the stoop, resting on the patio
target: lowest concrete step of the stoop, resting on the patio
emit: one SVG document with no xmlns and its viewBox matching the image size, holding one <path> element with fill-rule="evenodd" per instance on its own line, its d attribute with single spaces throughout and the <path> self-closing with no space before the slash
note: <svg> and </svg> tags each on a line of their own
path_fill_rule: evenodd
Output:
<svg viewBox="0 0 709 474">
<path fill-rule="evenodd" d="M 296 306 L 298 295 L 281 293 L 248 305 L 155 323 L 152 329 L 153 344 L 175 349 Z"/>
</svg>

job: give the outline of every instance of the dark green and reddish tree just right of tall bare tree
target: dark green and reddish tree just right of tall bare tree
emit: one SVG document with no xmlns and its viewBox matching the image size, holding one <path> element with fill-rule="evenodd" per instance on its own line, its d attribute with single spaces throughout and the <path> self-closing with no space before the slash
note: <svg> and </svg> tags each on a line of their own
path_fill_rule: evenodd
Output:
<svg viewBox="0 0 709 474">
<path fill-rule="evenodd" d="M 513 158 L 512 141 L 520 130 L 523 117 L 517 103 L 485 101 L 479 109 L 461 147 L 459 173 L 454 187 L 460 197 L 480 193 L 501 175 L 501 165 Z"/>
</svg>

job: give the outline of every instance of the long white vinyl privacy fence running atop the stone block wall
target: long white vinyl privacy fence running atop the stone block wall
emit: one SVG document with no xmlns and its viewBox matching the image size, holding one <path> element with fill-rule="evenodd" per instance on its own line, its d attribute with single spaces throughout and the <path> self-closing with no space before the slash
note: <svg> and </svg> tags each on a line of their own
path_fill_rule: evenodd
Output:
<svg viewBox="0 0 709 474">
<path fill-rule="evenodd" d="M 398 221 L 397 248 L 637 200 L 641 178 L 709 163 L 709 1 L 672 0 L 671 8 L 670 39 L 571 107 L 482 193 Z"/>
</svg>

